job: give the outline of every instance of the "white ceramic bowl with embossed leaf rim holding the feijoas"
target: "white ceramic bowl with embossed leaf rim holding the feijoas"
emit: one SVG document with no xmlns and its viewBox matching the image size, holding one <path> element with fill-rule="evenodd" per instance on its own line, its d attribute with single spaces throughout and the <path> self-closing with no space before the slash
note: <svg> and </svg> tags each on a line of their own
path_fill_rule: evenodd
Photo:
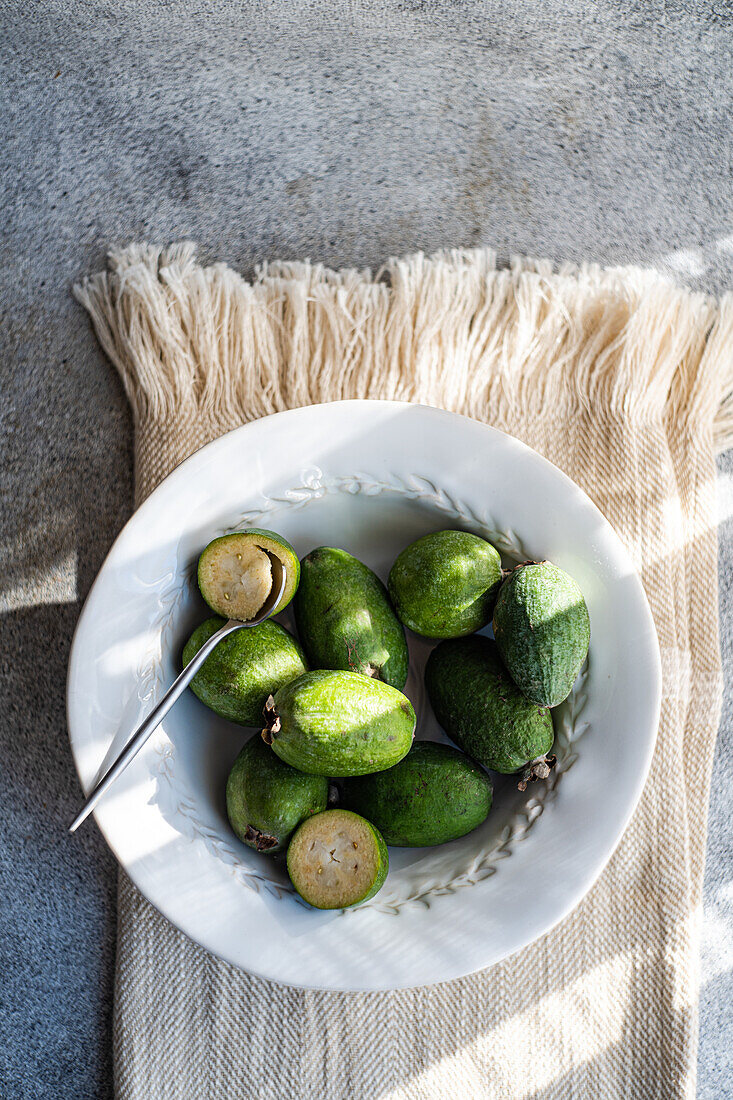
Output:
<svg viewBox="0 0 733 1100">
<path fill-rule="evenodd" d="M 87 600 L 68 674 L 69 736 L 86 791 L 173 679 L 184 641 L 206 617 L 194 582 L 200 550 L 247 525 L 282 532 L 299 554 L 344 547 L 384 579 L 404 546 L 445 527 L 485 536 L 506 560 L 550 558 L 568 570 L 592 636 L 588 667 L 556 714 L 558 767 L 524 794 L 497 779 L 481 828 L 438 848 L 391 849 L 387 881 L 371 902 L 319 913 L 294 895 L 282 864 L 231 833 L 225 782 L 250 734 L 186 693 L 97 811 L 132 881 L 216 955 L 314 988 L 442 981 L 548 932 L 616 846 L 657 730 L 654 624 L 609 524 L 527 447 L 434 408 L 344 402 L 223 436 L 145 501 Z M 441 739 L 423 689 L 430 646 L 409 641 L 406 692 L 418 737 Z"/>
</svg>

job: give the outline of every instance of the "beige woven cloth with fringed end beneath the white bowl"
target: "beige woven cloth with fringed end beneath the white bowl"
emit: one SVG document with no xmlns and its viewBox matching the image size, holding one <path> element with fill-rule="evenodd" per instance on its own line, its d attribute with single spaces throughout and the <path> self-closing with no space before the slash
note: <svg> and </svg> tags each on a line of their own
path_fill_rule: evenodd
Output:
<svg viewBox="0 0 733 1100">
<path fill-rule="evenodd" d="M 266 413 L 343 397 L 456 409 L 597 502 L 641 570 L 665 672 L 652 776 L 608 869 L 558 928 L 482 974 L 380 994 L 276 987 L 189 943 L 121 876 L 120 1100 L 691 1098 L 733 302 L 630 268 L 499 271 L 485 250 L 378 278 L 274 264 L 248 283 L 189 244 L 114 253 L 76 293 L 132 403 L 138 501 Z"/>
</svg>

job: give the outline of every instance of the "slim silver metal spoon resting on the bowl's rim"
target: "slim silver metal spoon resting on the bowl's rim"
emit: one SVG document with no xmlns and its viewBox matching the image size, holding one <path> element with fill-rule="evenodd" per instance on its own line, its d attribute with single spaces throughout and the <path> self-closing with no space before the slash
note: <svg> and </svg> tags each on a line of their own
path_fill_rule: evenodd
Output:
<svg viewBox="0 0 733 1100">
<path fill-rule="evenodd" d="M 151 714 L 147 715 L 145 721 L 141 726 L 134 732 L 125 747 L 120 752 L 119 757 L 113 765 L 108 768 L 102 778 L 99 780 L 94 791 L 87 799 L 84 810 L 80 814 L 74 818 L 72 825 L 69 826 L 69 833 L 76 833 L 77 828 L 81 822 L 86 821 L 91 811 L 95 809 L 105 792 L 112 785 L 118 776 L 120 776 L 124 769 L 128 767 L 130 761 L 134 759 L 140 749 L 143 747 L 147 738 L 154 730 L 157 729 L 161 722 L 168 713 L 175 701 L 179 695 L 186 690 L 190 681 L 194 679 L 201 664 L 209 656 L 212 649 L 215 649 L 222 638 L 228 635 L 233 634 L 234 630 L 241 630 L 244 627 L 258 626 L 260 623 L 264 623 L 266 618 L 273 614 L 277 604 L 281 601 L 283 592 L 285 591 L 285 566 L 283 565 L 280 558 L 276 558 L 269 550 L 265 551 L 270 561 L 272 562 L 272 588 L 270 590 L 270 595 L 265 600 L 264 604 L 260 608 L 260 613 L 256 618 L 248 619 L 245 623 L 239 619 L 229 619 L 225 623 L 216 634 L 212 634 L 208 641 L 205 641 L 196 656 L 188 662 L 186 668 L 183 670 L 179 676 L 177 676 L 168 690 L 166 691 L 160 703 L 153 708 Z"/>
</svg>

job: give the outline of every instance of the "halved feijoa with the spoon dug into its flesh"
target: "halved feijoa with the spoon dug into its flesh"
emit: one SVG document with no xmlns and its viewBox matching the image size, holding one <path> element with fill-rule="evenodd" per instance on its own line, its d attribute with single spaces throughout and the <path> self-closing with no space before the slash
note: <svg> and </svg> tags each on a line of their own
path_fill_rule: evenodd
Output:
<svg viewBox="0 0 733 1100">
<path fill-rule="evenodd" d="M 198 587 L 217 615 L 247 623 L 256 618 L 273 583 L 282 583 L 278 569 L 285 571 L 285 591 L 273 615 L 295 595 L 300 562 L 282 535 L 250 527 L 209 542 L 198 559 Z"/>
</svg>

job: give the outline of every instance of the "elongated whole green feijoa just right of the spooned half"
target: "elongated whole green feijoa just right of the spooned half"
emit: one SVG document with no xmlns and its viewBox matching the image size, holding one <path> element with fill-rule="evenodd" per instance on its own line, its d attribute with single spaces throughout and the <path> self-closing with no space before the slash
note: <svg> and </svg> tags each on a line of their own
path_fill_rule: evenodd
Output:
<svg viewBox="0 0 733 1100">
<path fill-rule="evenodd" d="M 346 550 L 318 547 L 300 563 L 298 636 L 315 669 L 344 669 L 405 686 L 407 642 L 379 576 Z"/>
</svg>

